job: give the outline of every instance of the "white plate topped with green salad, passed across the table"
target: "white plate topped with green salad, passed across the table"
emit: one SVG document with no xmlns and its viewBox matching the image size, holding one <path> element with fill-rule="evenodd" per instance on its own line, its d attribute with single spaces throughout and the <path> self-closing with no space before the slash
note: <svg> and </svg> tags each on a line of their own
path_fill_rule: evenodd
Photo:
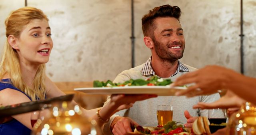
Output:
<svg viewBox="0 0 256 135">
<path fill-rule="evenodd" d="M 88 94 L 157 94 L 157 95 L 175 95 L 176 91 L 186 89 L 186 86 L 173 87 L 170 79 L 162 79 L 152 76 L 144 79 L 130 79 L 124 83 L 113 83 L 108 80 L 94 81 L 94 87 L 75 88 Z"/>
</svg>

